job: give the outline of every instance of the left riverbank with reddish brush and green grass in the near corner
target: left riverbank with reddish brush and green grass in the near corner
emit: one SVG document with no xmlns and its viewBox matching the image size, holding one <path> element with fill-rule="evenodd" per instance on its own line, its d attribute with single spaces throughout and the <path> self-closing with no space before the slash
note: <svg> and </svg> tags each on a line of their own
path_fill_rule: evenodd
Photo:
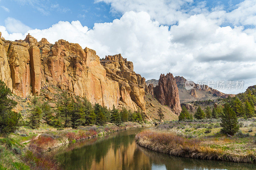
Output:
<svg viewBox="0 0 256 170">
<path fill-rule="evenodd" d="M 151 123 L 124 122 L 120 126 L 108 123 L 104 126 L 87 126 L 79 129 L 50 130 L 42 133 L 40 136 L 35 132 L 29 132 L 27 137 L 22 137 L 26 128 L 22 128 L 21 136 L 12 134 L 10 137 L 0 138 L 0 169 L 61 169 L 58 162 L 51 156 L 44 154 L 53 148 L 63 144 L 75 143 L 84 139 L 103 136 L 116 131 L 125 129 L 151 126 Z M 43 128 L 45 129 L 45 128 Z M 47 128 L 48 129 L 48 128 Z M 32 138 L 34 137 L 34 139 Z M 27 140 L 32 138 L 31 140 Z M 27 142 L 28 143 L 24 143 Z"/>
</svg>

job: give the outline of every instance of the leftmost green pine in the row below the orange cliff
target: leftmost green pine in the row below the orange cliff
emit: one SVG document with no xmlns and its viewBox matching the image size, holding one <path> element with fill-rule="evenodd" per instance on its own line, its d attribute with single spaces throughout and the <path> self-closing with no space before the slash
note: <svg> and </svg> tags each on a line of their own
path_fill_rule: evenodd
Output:
<svg viewBox="0 0 256 170">
<path fill-rule="evenodd" d="M 42 119 L 42 109 L 39 106 L 35 106 L 28 116 L 29 127 L 36 129 L 40 126 L 40 121 Z"/>
</svg>

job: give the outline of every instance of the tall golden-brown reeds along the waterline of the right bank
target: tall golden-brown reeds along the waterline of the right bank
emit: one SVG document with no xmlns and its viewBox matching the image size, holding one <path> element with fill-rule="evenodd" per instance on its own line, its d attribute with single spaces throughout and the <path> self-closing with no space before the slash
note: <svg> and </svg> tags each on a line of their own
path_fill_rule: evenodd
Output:
<svg viewBox="0 0 256 170">
<path fill-rule="evenodd" d="M 145 130 L 135 136 L 136 143 L 156 152 L 196 159 L 214 159 L 232 162 L 256 162 L 256 153 L 235 155 L 222 149 L 206 147 L 198 139 L 188 139 L 175 133 Z"/>
</svg>

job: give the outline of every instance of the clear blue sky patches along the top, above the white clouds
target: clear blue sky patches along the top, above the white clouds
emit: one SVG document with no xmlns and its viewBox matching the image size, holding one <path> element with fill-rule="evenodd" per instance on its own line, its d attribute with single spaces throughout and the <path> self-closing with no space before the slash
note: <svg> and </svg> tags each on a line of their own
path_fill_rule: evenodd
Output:
<svg viewBox="0 0 256 170">
<path fill-rule="evenodd" d="M 205 2 L 208 8 L 222 4 L 228 11 L 242 1 L 195 1 L 191 5 L 199 2 Z M 121 12 L 113 14 L 110 11 L 110 4 L 94 0 L 1 0 L 0 6 L 9 9 L 9 12 L 1 9 L 0 25 L 4 26 L 4 20 L 12 17 L 33 29 L 45 29 L 59 21 L 74 20 L 79 20 L 82 25 L 92 28 L 94 23 L 112 22 L 122 16 Z"/>
</svg>

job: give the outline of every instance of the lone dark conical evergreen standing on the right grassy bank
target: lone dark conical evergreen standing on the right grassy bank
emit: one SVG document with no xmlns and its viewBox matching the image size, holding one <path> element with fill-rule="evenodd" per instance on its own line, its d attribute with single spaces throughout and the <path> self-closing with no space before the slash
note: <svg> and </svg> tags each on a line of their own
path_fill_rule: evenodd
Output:
<svg viewBox="0 0 256 170">
<path fill-rule="evenodd" d="M 236 117 L 236 113 L 230 107 L 229 104 L 225 104 L 223 114 L 220 115 L 222 127 L 221 131 L 228 135 L 234 135 L 239 130 L 239 125 Z"/>
</svg>

